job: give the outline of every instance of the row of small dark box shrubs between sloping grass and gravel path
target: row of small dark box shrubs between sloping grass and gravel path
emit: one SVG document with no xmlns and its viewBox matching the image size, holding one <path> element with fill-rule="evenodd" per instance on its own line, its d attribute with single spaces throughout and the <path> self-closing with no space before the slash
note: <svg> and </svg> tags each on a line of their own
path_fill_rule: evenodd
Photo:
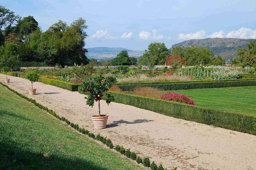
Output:
<svg viewBox="0 0 256 170">
<path fill-rule="evenodd" d="M 4 86 L 5 88 L 7 88 L 8 90 L 12 91 L 12 92 L 13 92 L 14 94 L 16 94 L 17 96 L 19 96 L 19 97 L 21 97 L 21 98 L 27 100 L 28 102 L 30 102 L 30 103 L 32 103 L 32 104 L 34 104 L 34 105 L 36 105 L 36 107 L 38 107 L 39 109 L 42 109 L 42 110 L 44 110 L 44 111 L 50 113 L 50 114 L 51 114 L 52 116 L 54 116 L 55 118 L 57 118 L 57 119 L 59 119 L 59 120 L 61 120 L 61 121 L 66 122 L 71 128 L 74 128 L 74 129 L 77 130 L 78 132 L 80 132 L 80 133 L 82 133 L 82 134 L 84 134 L 84 135 L 87 135 L 88 137 L 91 137 L 91 138 L 94 139 L 94 140 L 98 140 L 98 141 L 102 142 L 103 144 L 105 144 L 105 145 L 106 145 L 107 147 L 109 147 L 110 149 L 115 149 L 115 150 L 116 150 L 116 148 L 113 148 L 114 146 L 113 146 L 112 141 L 111 141 L 109 138 L 107 138 L 107 136 L 106 136 L 106 137 L 103 137 L 102 135 L 100 135 L 100 133 L 98 133 L 98 135 L 95 136 L 92 132 L 88 131 L 87 129 L 79 128 L 79 125 L 78 125 L 78 124 L 71 123 L 71 122 L 70 122 L 68 119 L 66 119 L 65 117 L 60 117 L 60 116 L 57 115 L 56 112 L 54 112 L 53 110 L 48 109 L 47 107 L 43 106 L 42 104 L 37 103 L 36 100 L 34 100 L 34 99 L 32 99 L 32 98 L 28 98 L 28 97 L 26 97 L 26 96 L 20 94 L 19 92 L 15 91 L 15 90 L 13 90 L 13 89 L 11 89 L 11 88 L 9 88 L 9 86 L 3 84 L 2 82 L 0 82 L 0 84 L 1 84 L 2 86 Z M 119 145 L 116 145 L 116 146 L 119 146 Z M 122 146 L 122 147 L 123 147 L 123 146 Z M 130 149 L 125 149 L 125 148 L 123 148 L 123 149 L 124 149 L 124 151 L 125 151 L 125 154 L 124 154 L 124 155 L 125 155 L 127 158 L 130 158 L 130 153 L 135 154 L 135 156 L 136 156 L 136 158 L 137 158 L 137 155 L 136 155 L 135 152 L 130 152 Z M 116 151 L 117 151 L 117 150 L 116 150 Z M 129 154 L 128 154 L 128 152 L 129 152 Z M 121 153 L 121 152 L 120 152 L 120 153 Z M 122 153 L 121 153 L 121 154 L 122 154 Z M 138 157 L 139 157 L 139 156 L 138 156 Z M 148 157 L 145 157 L 145 158 L 148 158 Z M 130 159 L 134 160 L 133 158 L 130 158 Z M 153 162 L 154 162 L 154 161 L 153 161 Z M 138 164 L 139 164 L 139 163 L 138 163 Z M 162 164 L 160 164 L 159 167 L 160 167 L 160 166 L 162 166 Z M 175 170 L 175 169 L 177 169 L 177 167 L 173 168 L 173 170 Z"/>
</svg>

